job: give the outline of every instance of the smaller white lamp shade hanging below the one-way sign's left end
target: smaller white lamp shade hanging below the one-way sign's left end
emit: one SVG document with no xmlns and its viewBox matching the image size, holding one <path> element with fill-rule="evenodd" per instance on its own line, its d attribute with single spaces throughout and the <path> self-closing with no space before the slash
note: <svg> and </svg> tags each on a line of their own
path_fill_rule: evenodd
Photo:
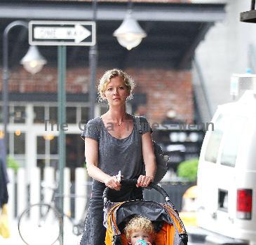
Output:
<svg viewBox="0 0 256 245">
<path fill-rule="evenodd" d="M 43 65 L 46 63 L 46 59 L 40 54 L 35 45 L 29 46 L 27 54 L 20 61 L 20 64 L 22 64 L 24 68 L 32 74 L 41 71 Z"/>
</svg>

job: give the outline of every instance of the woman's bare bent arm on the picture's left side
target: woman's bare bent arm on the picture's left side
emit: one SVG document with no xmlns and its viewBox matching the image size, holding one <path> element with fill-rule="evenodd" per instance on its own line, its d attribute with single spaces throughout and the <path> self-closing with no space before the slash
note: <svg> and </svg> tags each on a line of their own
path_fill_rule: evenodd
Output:
<svg viewBox="0 0 256 245">
<path fill-rule="evenodd" d="M 109 188 L 120 190 L 121 184 L 116 176 L 109 176 L 97 167 L 99 155 L 97 141 L 86 137 L 84 139 L 84 153 L 86 156 L 86 167 L 89 176 L 97 181 L 105 183 Z"/>
</svg>

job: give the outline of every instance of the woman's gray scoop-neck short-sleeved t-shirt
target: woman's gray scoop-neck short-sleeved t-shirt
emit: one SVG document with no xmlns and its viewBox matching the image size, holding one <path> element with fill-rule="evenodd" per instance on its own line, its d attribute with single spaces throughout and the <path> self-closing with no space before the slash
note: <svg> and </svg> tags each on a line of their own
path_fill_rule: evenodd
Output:
<svg viewBox="0 0 256 245">
<path fill-rule="evenodd" d="M 140 117 L 142 134 L 151 132 L 147 119 Z M 98 167 L 110 176 L 121 170 L 123 179 L 134 179 L 142 172 L 141 135 L 133 116 L 133 131 L 124 139 L 113 137 L 105 127 L 102 118 L 94 118 L 86 125 L 81 135 L 95 139 L 99 144 Z"/>
</svg>

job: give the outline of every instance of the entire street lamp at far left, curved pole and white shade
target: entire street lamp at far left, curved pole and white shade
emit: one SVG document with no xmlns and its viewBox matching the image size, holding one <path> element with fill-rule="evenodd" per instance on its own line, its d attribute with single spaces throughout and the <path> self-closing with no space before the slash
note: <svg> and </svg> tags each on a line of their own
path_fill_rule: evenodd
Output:
<svg viewBox="0 0 256 245">
<path fill-rule="evenodd" d="M 3 151 L 3 160 L 4 163 L 6 164 L 6 155 L 7 155 L 7 143 L 8 143 L 8 139 L 7 139 L 7 125 L 8 125 L 8 119 L 9 119 L 9 115 L 8 115 L 8 78 L 9 78 L 9 74 L 8 74 L 8 34 L 11 31 L 11 29 L 13 29 L 13 27 L 17 27 L 17 26 L 21 26 L 21 27 L 25 27 L 26 29 L 28 29 L 28 25 L 27 22 L 24 21 L 20 21 L 20 20 L 16 20 L 11 22 L 5 29 L 4 29 L 4 36 L 3 36 L 3 85 L 2 85 L 2 108 L 3 108 L 3 122 L 4 122 L 4 151 Z M 43 64 L 46 64 L 46 59 L 44 59 L 40 54 L 39 51 L 36 49 L 36 47 L 34 48 L 29 48 L 30 52 L 27 52 L 27 55 L 29 53 L 32 54 L 37 54 L 37 57 L 35 57 L 34 55 L 32 55 L 32 57 L 36 58 L 36 62 L 33 62 L 31 58 L 31 55 L 29 55 L 29 59 L 25 59 L 25 57 L 27 55 L 25 55 L 25 57 L 22 59 L 22 64 L 24 64 L 25 69 L 27 69 L 27 71 L 31 72 L 31 73 L 36 73 L 38 71 L 41 70 L 41 68 L 43 67 Z M 41 59 L 39 59 L 41 58 Z M 30 62 L 28 62 L 30 61 Z M 29 65 L 31 64 L 32 66 L 34 66 L 34 68 L 31 68 Z M 42 64 L 43 63 L 43 64 Z M 41 68 L 40 68 L 41 67 Z M 39 69 L 40 68 L 40 69 Z"/>
</svg>

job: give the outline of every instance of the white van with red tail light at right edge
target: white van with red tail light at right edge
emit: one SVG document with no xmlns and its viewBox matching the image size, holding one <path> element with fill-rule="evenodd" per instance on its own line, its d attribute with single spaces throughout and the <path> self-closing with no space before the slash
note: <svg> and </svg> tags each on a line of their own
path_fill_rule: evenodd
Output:
<svg viewBox="0 0 256 245">
<path fill-rule="evenodd" d="M 198 226 L 256 245 L 256 92 L 219 106 L 212 122 L 198 165 Z"/>
</svg>

